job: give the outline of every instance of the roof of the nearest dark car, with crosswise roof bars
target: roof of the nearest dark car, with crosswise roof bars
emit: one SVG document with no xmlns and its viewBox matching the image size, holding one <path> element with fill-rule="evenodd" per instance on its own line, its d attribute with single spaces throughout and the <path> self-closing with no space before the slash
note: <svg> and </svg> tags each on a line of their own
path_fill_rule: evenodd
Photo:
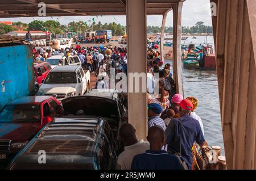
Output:
<svg viewBox="0 0 256 181">
<path fill-rule="evenodd" d="M 38 163 L 38 151 L 45 150 L 47 163 L 93 163 L 106 122 L 100 117 L 56 117 L 35 137 L 14 163 Z"/>
</svg>

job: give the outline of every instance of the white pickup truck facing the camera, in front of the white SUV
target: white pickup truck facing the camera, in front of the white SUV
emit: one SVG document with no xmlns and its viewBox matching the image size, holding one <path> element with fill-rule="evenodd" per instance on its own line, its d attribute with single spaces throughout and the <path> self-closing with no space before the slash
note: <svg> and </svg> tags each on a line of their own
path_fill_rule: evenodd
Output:
<svg viewBox="0 0 256 181">
<path fill-rule="evenodd" d="M 42 81 L 37 95 L 51 95 L 57 100 L 84 95 L 89 90 L 90 72 L 81 66 L 56 66 Z"/>
</svg>

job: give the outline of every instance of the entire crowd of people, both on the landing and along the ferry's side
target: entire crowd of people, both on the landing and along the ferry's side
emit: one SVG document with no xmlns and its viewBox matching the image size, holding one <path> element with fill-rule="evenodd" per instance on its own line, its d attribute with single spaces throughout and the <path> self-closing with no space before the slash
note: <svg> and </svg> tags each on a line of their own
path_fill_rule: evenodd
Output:
<svg viewBox="0 0 256 181">
<path fill-rule="evenodd" d="M 44 61 L 54 54 L 64 56 L 79 56 L 82 67 L 101 74 L 96 87 L 108 89 L 104 82 L 106 74 L 115 62 L 126 60 L 127 49 L 117 47 L 81 47 L 71 49 L 56 49 L 52 52 L 43 47 L 35 51 L 34 58 Z M 123 71 L 127 73 L 126 68 Z M 120 129 L 125 149 L 118 156 L 118 169 L 134 170 L 166 170 L 192 169 L 193 145 L 201 148 L 207 146 L 204 138 L 204 128 L 195 110 L 198 106 L 196 98 L 183 98 L 176 94 L 176 85 L 172 78 L 171 65 L 161 60 L 158 45 L 148 43 L 147 46 L 147 80 L 155 85 L 155 75 L 158 74 L 158 94 L 148 91 L 148 134 L 147 141 L 138 140 L 131 124 L 123 124 Z M 149 90 L 149 89 L 148 89 Z"/>
</svg>

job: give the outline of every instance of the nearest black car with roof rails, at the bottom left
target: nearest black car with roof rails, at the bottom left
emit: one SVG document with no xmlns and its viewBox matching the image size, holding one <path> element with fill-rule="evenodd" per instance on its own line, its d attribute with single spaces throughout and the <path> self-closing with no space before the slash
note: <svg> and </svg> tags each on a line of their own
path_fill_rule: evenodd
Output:
<svg viewBox="0 0 256 181">
<path fill-rule="evenodd" d="M 20 151 L 9 169 L 116 169 L 114 148 L 113 133 L 101 117 L 56 117 Z"/>
</svg>

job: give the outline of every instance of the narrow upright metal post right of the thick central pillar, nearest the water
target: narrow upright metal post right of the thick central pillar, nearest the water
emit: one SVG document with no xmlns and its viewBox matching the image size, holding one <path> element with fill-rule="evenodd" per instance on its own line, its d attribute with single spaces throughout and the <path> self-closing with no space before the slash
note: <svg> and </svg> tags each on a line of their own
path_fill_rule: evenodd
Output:
<svg viewBox="0 0 256 181">
<path fill-rule="evenodd" d="M 173 68 L 176 92 L 184 95 L 182 81 L 182 62 L 181 62 L 181 14 L 183 2 L 177 3 L 173 8 L 174 13 L 174 48 L 173 48 Z"/>
</svg>

